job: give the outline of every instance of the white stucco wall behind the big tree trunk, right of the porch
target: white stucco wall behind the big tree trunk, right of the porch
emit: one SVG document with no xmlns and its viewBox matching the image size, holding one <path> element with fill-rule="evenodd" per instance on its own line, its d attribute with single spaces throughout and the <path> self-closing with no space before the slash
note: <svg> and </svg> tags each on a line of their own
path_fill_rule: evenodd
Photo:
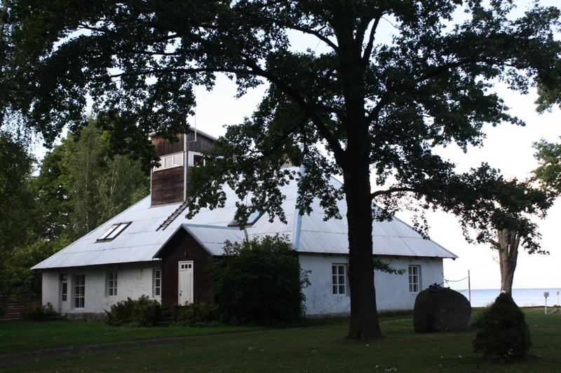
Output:
<svg viewBox="0 0 561 373">
<path fill-rule="evenodd" d="M 407 269 L 410 265 L 419 266 L 419 291 L 433 283 L 442 283 L 442 259 L 384 256 L 380 256 L 379 259 L 388 262 L 396 269 Z M 302 269 L 310 271 L 308 276 L 311 286 L 304 289 L 306 314 L 309 316 L 349 314 L 351 302 L 348 281 L 345 295 L 334 295 L 332 292 L 332 265 L 348 265 L 348 255 L 299 253 L 299 261 Z M 410 293 L 407 273 L 397 275 L 377 271 L 374 273 L 374 284 L 378 311 L 413 309 L 418 293 Z"/>
</svg>

